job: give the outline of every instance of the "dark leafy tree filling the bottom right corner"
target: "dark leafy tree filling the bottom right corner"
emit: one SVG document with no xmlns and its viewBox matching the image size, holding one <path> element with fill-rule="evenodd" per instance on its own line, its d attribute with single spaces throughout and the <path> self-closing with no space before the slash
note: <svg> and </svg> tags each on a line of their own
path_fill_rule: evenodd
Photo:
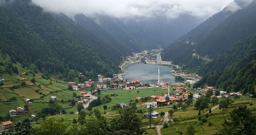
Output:
<svg viewBox="0 0 256 135">
<path fill-rule="evenodd" d="M 223 129 L 219 134 L 256 134 L 256 117 L 247 106 L 239 106 L 230 113 L 230 119 L 225 119 L 222 124 Z"/>
</svg>

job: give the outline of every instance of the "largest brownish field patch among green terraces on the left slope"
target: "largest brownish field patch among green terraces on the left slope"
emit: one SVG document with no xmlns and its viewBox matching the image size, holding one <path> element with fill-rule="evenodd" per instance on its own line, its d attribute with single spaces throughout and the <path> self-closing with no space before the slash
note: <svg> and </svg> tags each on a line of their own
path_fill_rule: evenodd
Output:
<svg viewBox="0 0 256 135">
<path fill-rule="evenodd" d="M 18 88 L 14 89 L 14 92 L 17 93 L 23 99 L 36 99 L 40 98 L 39 92 L 36 92 L 33 88 Z"/>
</svg>

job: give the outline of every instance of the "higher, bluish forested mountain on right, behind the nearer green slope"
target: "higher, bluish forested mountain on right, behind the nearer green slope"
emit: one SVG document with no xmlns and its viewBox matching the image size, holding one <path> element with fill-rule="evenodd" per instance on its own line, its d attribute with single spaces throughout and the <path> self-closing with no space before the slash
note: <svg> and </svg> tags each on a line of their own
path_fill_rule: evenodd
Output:
<svg viewBox="0 0 256 135">
<path fill-rule="evenodd" d="M 255 1 L 250 6 L 248 3 L 245 0 L 230 3 L 164 49 L 161 53 L 163 60 L 184 65 L 192 59 L 193 53 L 204 59 L 214 59 L 237 41 L 244 40 L 255 30 L 255 19 L 251 19 L 255 12 Z M 241 10 L 233 9 L 234 4 Z"/>
</svg>

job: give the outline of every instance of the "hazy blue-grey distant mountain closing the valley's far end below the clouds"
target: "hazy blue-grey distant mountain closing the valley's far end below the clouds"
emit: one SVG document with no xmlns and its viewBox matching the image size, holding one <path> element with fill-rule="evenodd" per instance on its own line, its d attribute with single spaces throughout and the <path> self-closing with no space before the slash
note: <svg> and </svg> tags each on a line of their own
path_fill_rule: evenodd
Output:
<svg viewBox="0 0 256 135">
<path fill-rule="evenodd" d="M 156 47 L 165 48 L 191 29 L 196 27 L 201 19 L 182 14 L 177 18 L 166 16 L 150 18 L 132 18 L 123 20 L 127 27 Z"/>
</svg>

